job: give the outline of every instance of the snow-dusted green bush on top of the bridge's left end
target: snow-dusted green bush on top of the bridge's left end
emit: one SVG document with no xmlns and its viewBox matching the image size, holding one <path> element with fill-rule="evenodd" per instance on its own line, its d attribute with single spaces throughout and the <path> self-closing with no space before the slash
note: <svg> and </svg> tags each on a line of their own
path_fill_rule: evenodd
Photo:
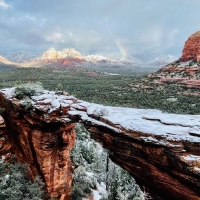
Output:
<svg viewBox="0 0 200 200">
<path fill-rule="evenodd" d="M 40 95 L 43 93 L 44 88 L 40 84 L 26 83 L 15 87 L 13 96 L 17 99 Z"/>
</svg>

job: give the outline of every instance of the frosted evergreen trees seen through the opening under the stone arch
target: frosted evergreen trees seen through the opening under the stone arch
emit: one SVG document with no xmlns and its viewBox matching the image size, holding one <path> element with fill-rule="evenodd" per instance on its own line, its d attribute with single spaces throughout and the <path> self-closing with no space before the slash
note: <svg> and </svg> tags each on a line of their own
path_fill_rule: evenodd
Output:
<svg viewBox="0 0 200 200">
<path fill-rule="evenodd" d="M 75 164 L 72 200 L 82 200 L 99 185 L 105 186 L 101 200 L 145 200 L 143 193 L 130 174 L 115 165 L 98 143 L 90 138 L 89 132 L 80 124 L 76 126 L 77 140 L 71 152 Z"/>
</svg>

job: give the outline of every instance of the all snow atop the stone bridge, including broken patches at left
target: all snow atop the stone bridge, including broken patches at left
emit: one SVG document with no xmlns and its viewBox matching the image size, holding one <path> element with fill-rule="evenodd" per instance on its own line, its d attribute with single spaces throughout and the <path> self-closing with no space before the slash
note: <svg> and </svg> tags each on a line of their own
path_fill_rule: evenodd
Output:
<svg viewBox="0 0 200 200">
<path fill-rule="evenodd" d="M 11 98 L 13 89 L 3 89 L 1 92 L 6 97 Z M 107 127 L 117 133 L 141 132 L 143 135 L 140 139 L 145 142 L 158 144 L 163 144 L 167 140 L 200 142 L 200 115 L 169 114 L 153 109 L 103 106 L 81 100 L 77 102 L 73 96 L 56 95 L 54 92 L 46 90 L 44 94 L 31 98 L 36 103 L 33 106 L 44 112 L 48 109 L 49 112 L 53 112 L 60 109 L 60 104 L 63 107 L 69 104 L 71 107 L 71 111 L 68 112 L 70 116 L 78 115 L 85 122 Z M 73 103 L 74 101 L 75 103 Z M 43 105 L 38 105 L 38 102 L 51 103 L 43 107 Z M 83 110 L 87 110 L 87 112 Z"/>
</svg>

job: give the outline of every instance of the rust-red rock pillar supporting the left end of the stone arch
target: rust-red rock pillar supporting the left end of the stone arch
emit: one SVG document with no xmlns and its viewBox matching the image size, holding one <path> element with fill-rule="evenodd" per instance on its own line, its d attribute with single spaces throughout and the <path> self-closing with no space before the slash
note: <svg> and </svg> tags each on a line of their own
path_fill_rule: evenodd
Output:
<svg viewBox="0 0 200 200">
<path fill-rule="evenodd" d="M 35 105 L 37 109 L 29 112 L 23 109 L 19 100 L 9 95 L 0 94 L 7 124 L 6 132 L 2 130 L 5 139 L 1 156 L 15 154 L 19 161 L 29 164 L 32 178 L 40 175 L 44 179 L 51 197 L 70 199 L 73 174 L 70 151 L 75 144 L 75 124 L 61 119 L 57 107 L 52 106 L 48 113 L 45 109 L 51 104 L 43 102 L 42 98 Z M 2 118 L 1 126 L 5 129 Z"/>
</svg>

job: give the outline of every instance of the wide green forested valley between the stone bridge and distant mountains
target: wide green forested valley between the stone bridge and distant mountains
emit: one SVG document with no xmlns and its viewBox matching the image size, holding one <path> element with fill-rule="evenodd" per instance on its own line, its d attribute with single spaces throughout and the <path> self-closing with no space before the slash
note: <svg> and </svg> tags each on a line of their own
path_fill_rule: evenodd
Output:
<svg viewBox="0 0 200 200">
<path fill-rule="evenodd" d="M 199 114 L 199 89 L 178 83 L 155 84 L 138 74 L 109 74 L 91 69 L 18 68 L 0 74 L 0 88 L 41 82 L 45 89 L 63 90 L 76 98 L 110 106 L 159 109 Z"/>
</svg>

